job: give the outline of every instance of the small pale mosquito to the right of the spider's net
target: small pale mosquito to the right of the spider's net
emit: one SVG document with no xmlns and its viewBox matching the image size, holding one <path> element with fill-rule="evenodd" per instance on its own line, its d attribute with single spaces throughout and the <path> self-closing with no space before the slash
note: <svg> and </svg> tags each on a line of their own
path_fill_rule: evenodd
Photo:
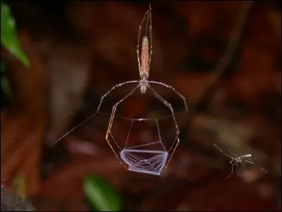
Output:
<svg viewBox="0 0 282 212">
<path fill-rule="evenodd" d="M 231 175 L 233 175 L 233 167 L 238 167 L 239 165 L 244 165 L 244 163 L 250 163 L 250 164 L 255 164 L 253 163 L 249 158 L 252 158 L 252 154 L 246 154 L 246 155 L 234 155 L 233 153 L 231 153 L 230 149 L 228 149 L 228 152 L 230 155 L 227 155 L 226 153 L 224 153 L 218 146 L 216 146 L 216 144 L 214 143 L 214 146 L 221 152 L 223 153 L 223 155 L 226 155 L 226 157 L 231 158 L 229 160 L 229 163 L 231 164 L 231 174 L 228 175 L 228 177 L 226 177 L 226 179 L 228 179 L 229 177 L 231 177 Z"/>
</svg>

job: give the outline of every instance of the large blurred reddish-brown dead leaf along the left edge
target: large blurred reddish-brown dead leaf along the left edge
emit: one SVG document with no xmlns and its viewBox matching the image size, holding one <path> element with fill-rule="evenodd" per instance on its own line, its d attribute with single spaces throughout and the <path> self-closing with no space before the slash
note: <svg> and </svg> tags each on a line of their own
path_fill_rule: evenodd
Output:
<svg viewBox="0 0 282 212">
<path fill-rule="evenodd" d="M 20 32 L 20 41 L 30 59 L 30 69 L 4 54 L 15 100 L 1 111 L 1 182 L 9 185 L 23 175 L 27 193 L 39 184 L 39 164 L 47 114 L 46 73 L 30 36 Z"/>
</svg>

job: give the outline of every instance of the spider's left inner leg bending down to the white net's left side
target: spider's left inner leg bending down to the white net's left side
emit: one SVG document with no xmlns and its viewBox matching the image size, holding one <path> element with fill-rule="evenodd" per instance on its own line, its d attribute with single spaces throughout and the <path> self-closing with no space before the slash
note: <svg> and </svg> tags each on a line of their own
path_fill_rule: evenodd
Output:
<svg viewBox="0 0 282 212">
<path fill-rule="evenodd" d="M 137 81 L 138 82 L 138 81 Z M 123 83 L 124 84 L 124 83 Z M 116 153 L 116 151 L 114 150 L 114 147 L 112 146 L 111 144 L 111 141 L 109 140 L 109 135 L 113 138 L 113 136 L 111 135 L 111 126 L 114 122 L 114 117 L 115 117 L 115 114 L 116 114 L 116 108 L 118 107 L 119 104 L 121 104 L 121 102 L 123 102 L 126 98 L 128 98 L 130 95 L 132 95 L 135 90 L 137 88 L 139 88 L 140 85 L 138 84 L 133 90 L 130 91 L 130 93 L 128 93 L 127 95 L 125 95 L 124 98 L 122 98 L 121 100 L 119 100 L 118 102 L 116 102 L 116 104 L 113 106 L 112 110 L 111 110 L 111 118 L 109 120 L 109 126 L 108 126 L 108 129 L 106 131 L 106 141 L 109 143 L 109 146 L 111 147 L 111 150 L 114 152 L 114 155 L 116 156 L 116 158 L 118 159 L 119 163 L 121 163 L 121 161 L 119 160 L 118 158 L 118 155 Z M 116 143 L 115 139 L 114 140 L 114 143 L 116 144 L 116 147 L 118 147 L 120 150 L 122 150 L 122 148 L 120 146 L 118 146 L 118 143 Z M 121 163 L 121 165 L 123 165 L 125 167 L 125 165 L 123 163 Z M 127 167 L 125 167 L 127 169 Z"/>
</svg>

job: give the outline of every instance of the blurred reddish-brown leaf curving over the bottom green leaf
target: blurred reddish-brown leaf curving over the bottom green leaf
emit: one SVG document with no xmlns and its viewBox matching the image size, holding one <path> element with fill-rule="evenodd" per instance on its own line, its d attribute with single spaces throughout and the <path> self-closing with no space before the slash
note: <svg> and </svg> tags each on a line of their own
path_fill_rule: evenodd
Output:
<svg viewBox="0 0 282 212">
<path fill-rule="evenodd" d="M 82 186 L 84 177 L 88 174 L 106 177 L 118 189 L 124 172 L 115 158 L 59 167 L 42 183 L 39 192 L 32 197 L 33 203 L 39 211 L 85 211 L 87 208 Z"/>
</svg>

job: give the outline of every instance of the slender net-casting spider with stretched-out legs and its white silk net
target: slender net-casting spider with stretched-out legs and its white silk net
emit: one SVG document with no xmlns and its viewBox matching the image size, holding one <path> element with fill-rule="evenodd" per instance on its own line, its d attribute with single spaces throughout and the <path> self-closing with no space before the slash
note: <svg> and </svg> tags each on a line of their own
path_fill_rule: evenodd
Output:
<svg viewBox="0 0 282 212">
<path fill-rule="evenodd" d="M 146 24 L 145 35 L 142 37 L 141 55 L 140 55 L 140 37 L 141 37 L 141 33 L 142 33 L 142 25 L 145 22 L 145 20 L 147 20 L 147 24 Z M 149 28 L 148 28 L 148 25 L 149 25 Z M 147 33 L 147 32 L 149 32 L 149 33 Z M 186 101 L 185 101 L 185 98 L 183 97 L 183 95 L 178 93 L 178 91 L 176 89 L 174 89 L 172 86 L 168 86 L 164 83 L 160 83 L 160 82 L 157 82 L 157 81 L 148 81 L 151 60 L 152 60 L 152 13 L 151 13 L 151 6 L 149 6 L 149 10 L 145 13 L 145 16 L 142 18 L 142 21 L 140 23 L 139 32 L 138 32 L 138 40 L 137 40 L 137 61 L 138 61 L 140 80 L 139 81 L 127 81 L 127 82 L 124 82 L 124 83 L 120 83 L 120 84 L 114 86 L 113 88 L 111 88 L 111 90 L 109 90 L 108 92 L 106 92 L 102 96 L 102 98 L 99 102 L 99 106 L 97 108 L 97 112 L 99 112 L 100 107 L 102 105 L 102 102 L 104 101 L 104 98 L 106 98 L 106 96 L 109 95 L 109 93 L 111 93 L 112 90 L 114 90 L 118 87 L 121 87 L 125 84 L 130 84 L 130 83 L 137 84 L 137 86 L 135 86 L 135 88 L 133 90 L 131 90 L 127 95 L 125 95 L 124 98 L 122 98 L 121 100 L 116 102 L 116 104 L 114 104 L 112 111 L 111 111 L 111 118 L 109 120 L 108 130 L 106 132 L 106 141 L 109 143 L 109 146 L 111 147 L 112 151 L 116 155 L 116 158 L 121 158 L 123 160 L 123 163 L 121 163 L 121 161 L 120 161 L 120 163 L 123 164 L 123 165 L 124 165 L 124 163 L 126 163 L 129 166 L 127 168 L 128 170 L 133 170 L 133 171 L 136 171 L 136 172 L 143 172 L 143 173 L 152 174 L 152 175 L 161 175 L 161 171 L 169 163 L 169 161 L 171 160 L 171 158 L 173 156 L 174 151 L 176 150 L 176 148 L 178 146 L 179 129 L 178 129 L 178 124 L 176 123 L 176 118 L 174 116 L 174 111 L 173 111 L 173 107 L 172 107 L 171 103 L 167 102 L 164 98 L 162 98 L 161 95 L 159 95 L 150 85 L 158 84 L 158 85 L 165 86 L 166 88 L 173 90 L 183 100 L 183 103 L 184 103 L 184 106 L 185 106 L 185 111 L 188 111 L 188 106 L 186 104 Z M 140 89 L 140 92 L 142 94 L 145 94 L 147 92 L 147 90 L 149 89 L 152 92 L 152 94 L 154 95 L 155 98 L 157 98 L 158 100 L 163 102 L 163 104 L 166 107 L 168 107 L 168 109 L 171 111 L 171 116 L 173 117 L 174 127 L 175 127 L 175 131 L 176 131 L 176 138 L 174 139 L 171 147 L 168 150 L 166 150 L 164 145 L 161 143 L 161 139 L 160 139 L 160 141 L 158 143 L 161 143 L 161 145 L 163 147 L 163 151 L 161 151 L 161 152 L 154 151 L 154 153 L 159 153 L 161 155 L 157 155 L 157 156 L 154 156 L 153 158 L 149 158 L 149 159 L 139 158 L 138 156 L 133 155 L 132 150 L 129 151 L 128 149 L 121 148 L 117 145 L 116 141 L 114 141 L 113 144 L 110 141 L 111 139 L 115 140 L 114 136 L 111 134 L 111 128 L 112 128 L 112 124 L 114 122 L 116 109 L 117 109 L 118 105 L 120 105 L 121 102 L 123 102 L 126 98 L 128 98 L 130 95 L 132 95 L 135 92 L 135 90 L 137 90 L 137 89 Z M 135 120 L 140 120 L 140 119 L 135 119 Z M 118 147 L 118 149 L 121 151 L 120 157 L 118 157 L 118 154 L 114 150 L 113 145 L 115 145 L 115 147 Z M 138 153 L 140 151 L 135 149 L 134 152 Z M 144 151 L 142 151 L 142 152 L 144 152 Z M 147 151 L 147 153 L 152 153 L 152 151 Z M 168 157 L 169 153 L 171 153 L 171 155 Z M 141 168 L 141 167 L 145 166 L 144 164 L 146 164 L 147 167 Z M 149 167 L 149 166 L 154 166 L 154 165 L 157 166 L 157 168 L 155 168 L 155 170 L 154 169 L 151 170 L 150 169 L 151 167 Z"/>
</svg>

